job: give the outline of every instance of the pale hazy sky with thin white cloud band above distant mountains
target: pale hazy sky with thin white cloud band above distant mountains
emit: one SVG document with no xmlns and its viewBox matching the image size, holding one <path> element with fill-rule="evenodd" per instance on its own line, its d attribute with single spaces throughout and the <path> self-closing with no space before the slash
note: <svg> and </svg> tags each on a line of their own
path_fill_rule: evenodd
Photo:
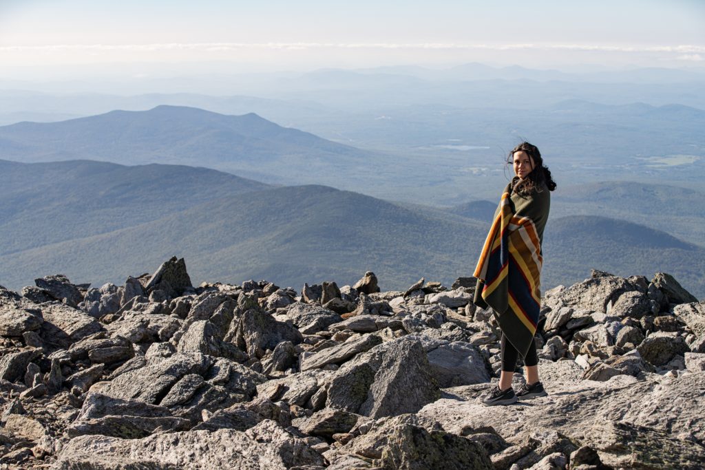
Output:
<svg viewBox="0 0 705 470">
<path fill-rule="evenodd" d="M 0 0 L 4 78 L 469 62 L 705 68 L 705 1 Z"/>
</svg>

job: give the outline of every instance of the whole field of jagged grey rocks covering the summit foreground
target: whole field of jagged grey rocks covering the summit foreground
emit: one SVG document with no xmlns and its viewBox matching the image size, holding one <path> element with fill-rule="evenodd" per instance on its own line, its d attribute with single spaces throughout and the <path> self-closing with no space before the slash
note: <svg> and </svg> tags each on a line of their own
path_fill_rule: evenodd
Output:
<svg viewBox="0 0 705 470">
<path fill-rule="evenodd" d="M 0 469 L 705 465 L 705 302 L 666 273 L 545 292 L 548 395 L 504 407 L 479 401 L 500 332 L 473 278 L 320 282 L 193 287 L 172 258 L 0 287 Z"/>
</svg>

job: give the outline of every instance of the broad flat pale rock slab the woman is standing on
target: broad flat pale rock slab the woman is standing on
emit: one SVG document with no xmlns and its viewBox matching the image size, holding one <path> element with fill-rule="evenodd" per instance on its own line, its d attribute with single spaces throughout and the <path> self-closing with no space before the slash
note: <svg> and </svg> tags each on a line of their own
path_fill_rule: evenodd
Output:
<svg viewBox="0 0 705 470">
<path fill-rule="evenodd" d="M 616 376 L 606 382 L 582 381 L 547 390 L 547 397 L 505 407 L 484 407 L 472 398 L 444 398 L 427 404 L 418 415 L 439 421 L 453 433 L 462 433 L 466 427 L 493 426 L 516 444 L 536 428 L 577 438 L 597 421 L 615 420 L 668 433 L 685 432 L 697 442 L 705 442 L 705 415 L 701 412 L 705 407 L 705 373 L 680 378 L 650 374 L 646 381 Z"/>
</svg>

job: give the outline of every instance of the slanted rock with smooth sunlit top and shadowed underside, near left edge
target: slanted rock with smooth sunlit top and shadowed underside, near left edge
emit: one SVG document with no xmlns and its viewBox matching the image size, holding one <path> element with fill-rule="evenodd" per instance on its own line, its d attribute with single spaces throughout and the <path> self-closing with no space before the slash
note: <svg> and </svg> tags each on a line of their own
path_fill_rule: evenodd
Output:
<svg viewBox="0 0 705 470">
<path fill-rule="evenodd" d="M 42 314 L 42 340 L 52 347 L 66 348 L 72 342 L 103 330 L 99 321 L 68 305 L 44 304 Z"/>
</svg>

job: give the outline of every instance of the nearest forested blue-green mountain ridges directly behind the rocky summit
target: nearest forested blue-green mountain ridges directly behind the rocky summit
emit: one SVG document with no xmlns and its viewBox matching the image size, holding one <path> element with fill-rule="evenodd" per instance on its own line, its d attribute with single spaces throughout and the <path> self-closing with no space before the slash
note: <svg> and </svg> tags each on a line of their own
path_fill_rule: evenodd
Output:
<svg viewBox="0 0 705 470">
<path fill-rule="evenodd" d="M 141 274 L 129 270 L 150 271 L 172 255 L 185 257 L 196 283 L 266 278 L 298 289 L 354 283 L 371 270 L 386 289 L 421 276 L 449 284 L 472 274 L 491 208 L 479 202 L 460 214 L 205 168 L 95 161 L 1 161 L 0 188 L 0 284 L 11 288 L 59 272 L 74 282 L 123 283 Z M 546 288 L 594 267 L 666 271 L 705 295 L 705 249 L 644 225 L 554 217 L 544 254 Z"/>
</svg>

